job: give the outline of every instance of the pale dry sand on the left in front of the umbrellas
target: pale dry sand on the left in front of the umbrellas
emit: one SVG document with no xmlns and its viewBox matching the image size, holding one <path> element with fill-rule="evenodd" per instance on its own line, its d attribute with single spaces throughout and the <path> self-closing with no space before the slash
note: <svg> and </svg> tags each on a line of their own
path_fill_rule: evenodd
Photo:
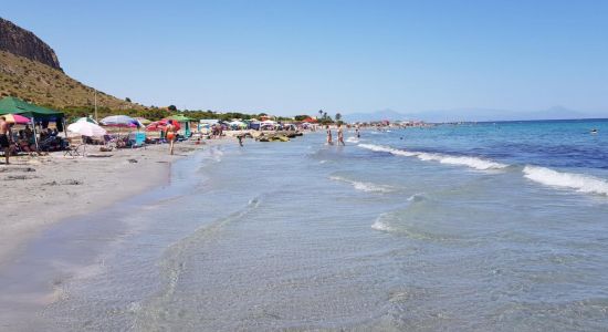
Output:
<svg viewBox="0 0 608 332">
<path fill-rule="evenodd" d="M 14 259 L 28 240 L 53 224 L 167 183 L 171 162 L 205 146 L 179 143 L 174 156 L 168 154 L 168 145 L 109 153 L 90 146 L 87 157 L 52 153 L 0 164 L 0 266 Z"/>
</svg>

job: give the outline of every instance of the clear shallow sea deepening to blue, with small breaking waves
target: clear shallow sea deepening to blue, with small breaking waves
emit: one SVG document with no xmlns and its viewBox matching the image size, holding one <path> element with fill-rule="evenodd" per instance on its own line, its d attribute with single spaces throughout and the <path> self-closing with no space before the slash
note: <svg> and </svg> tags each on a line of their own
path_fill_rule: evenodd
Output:
<svg viewBox="0 0 608 332">
<path fill-rule="evenodd" d="M 345 137 L 209 146 L 52 227 L 3 329 L 608 330 L 607 120 Z"/>
</svg>

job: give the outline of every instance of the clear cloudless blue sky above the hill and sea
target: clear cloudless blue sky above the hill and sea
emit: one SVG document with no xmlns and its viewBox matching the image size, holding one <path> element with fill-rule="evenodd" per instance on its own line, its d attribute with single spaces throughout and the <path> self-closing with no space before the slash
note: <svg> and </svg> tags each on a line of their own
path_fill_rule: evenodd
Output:
<svg viewBox="0 0 608 332">
<path fill-rule="evenodd" d="M 3 1 L 74 79 L 178 108 L 608 115 L 608 1 Z"/>
</svg>

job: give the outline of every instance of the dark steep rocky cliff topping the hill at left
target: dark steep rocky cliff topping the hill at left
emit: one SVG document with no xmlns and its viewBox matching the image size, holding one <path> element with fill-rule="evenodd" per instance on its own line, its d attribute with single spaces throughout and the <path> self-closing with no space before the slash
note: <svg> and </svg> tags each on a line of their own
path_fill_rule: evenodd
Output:
<svg viewBox="0 0 608 332">
<path fill-rule="evenodd" d="M 20 55 L 61 70 L 57 55 L 32 32 L 0 18 L 0 51 Z"/>
</svg>

